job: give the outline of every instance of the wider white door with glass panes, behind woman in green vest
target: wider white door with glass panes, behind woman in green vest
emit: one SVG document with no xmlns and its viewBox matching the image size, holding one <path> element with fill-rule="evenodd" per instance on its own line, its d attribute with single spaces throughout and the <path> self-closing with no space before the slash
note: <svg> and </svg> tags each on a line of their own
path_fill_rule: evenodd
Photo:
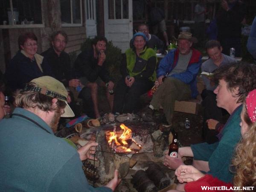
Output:
<svg viewBox="0 0 256 192">
<path fill-rule="evenodd" d="M 104 1 L 105 37 L 125 52 L 132 38 L 132 0 Z"/>
</svg>

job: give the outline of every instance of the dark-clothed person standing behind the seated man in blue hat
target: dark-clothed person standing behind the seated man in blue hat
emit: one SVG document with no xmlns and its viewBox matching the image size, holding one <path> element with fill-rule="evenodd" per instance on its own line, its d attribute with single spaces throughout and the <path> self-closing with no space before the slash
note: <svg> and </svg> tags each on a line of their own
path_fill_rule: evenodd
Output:
<svg viewBox="0 0 256 192">
<path fill-rule="evenodd" d="M 160 31 L 163 34 L 166 46 L 169 45 L 165 15 L 162 9 L 154 6 L 154 0 L 150 0 L 148 3 L 150 9 L 150 20 L 149 23 L 153 29 L 153 34 L 157 35 L 157 32 Z"/>
</svg>

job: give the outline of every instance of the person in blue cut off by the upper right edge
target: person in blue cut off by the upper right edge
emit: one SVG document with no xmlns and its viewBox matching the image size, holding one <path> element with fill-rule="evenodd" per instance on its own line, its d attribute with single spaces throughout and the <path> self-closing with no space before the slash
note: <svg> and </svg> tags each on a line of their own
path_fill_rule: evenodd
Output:
<svg viewBox="0 0 256 192">
<path fill-rule="evenodd" d="M 250 30 L 250 35 L 247 41 L 247 49 L 253 58 L 256 59 L 256 17 L 254 17 L 253 24 Z"/>
</svg>

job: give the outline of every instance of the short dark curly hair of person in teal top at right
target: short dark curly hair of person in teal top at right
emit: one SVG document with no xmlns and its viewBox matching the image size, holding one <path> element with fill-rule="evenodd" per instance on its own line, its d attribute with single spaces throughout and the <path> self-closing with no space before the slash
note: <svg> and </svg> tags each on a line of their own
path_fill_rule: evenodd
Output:
<svg viewBox="0 0 256 192">
<path fill-rule="evenodd" d="M 227 88 L 231 92 L 238 87 L 237 103 L 243 102 L 247 94 L 256 89 L 256 65 L 244 62 L 224 65 L 214 71 L 215 84 L 223 79 L 227 82 Z"/>
</svg>

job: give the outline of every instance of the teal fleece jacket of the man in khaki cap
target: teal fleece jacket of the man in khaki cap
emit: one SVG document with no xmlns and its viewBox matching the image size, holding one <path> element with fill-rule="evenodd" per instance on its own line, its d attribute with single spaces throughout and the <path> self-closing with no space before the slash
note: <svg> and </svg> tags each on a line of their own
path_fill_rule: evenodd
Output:
<svg viewBox="0 0 256 192">
<path fill-rule="evenodd" d="M 13 116 L 0 122 L 0 191 L 112 191 L 88 184 L 76 149 L 56 137 L 43 119 L 22 108 L 13 113 L 25 118 Z"/>
</svg>

